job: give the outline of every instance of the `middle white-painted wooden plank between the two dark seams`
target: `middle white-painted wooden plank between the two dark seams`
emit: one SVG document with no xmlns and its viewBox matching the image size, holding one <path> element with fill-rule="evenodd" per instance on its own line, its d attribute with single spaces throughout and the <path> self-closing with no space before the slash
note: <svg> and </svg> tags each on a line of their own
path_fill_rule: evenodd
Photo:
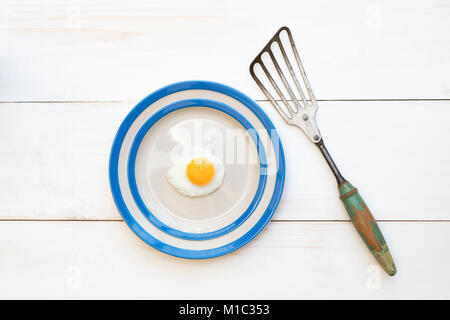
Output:
<svg viewBox="0 0 450 320">
<path fill-rule="evenodd" d="M 120 219 L 111 144 L 134 102 L 0 104 L 1 219 Z M 269 103 L 286 155 L 274 219 L 346 220 L 318 150 Z M 318 121 L 342 173 L 380 220 L 447 220 L 448 101 L 322 102 Z"/>
</svg>

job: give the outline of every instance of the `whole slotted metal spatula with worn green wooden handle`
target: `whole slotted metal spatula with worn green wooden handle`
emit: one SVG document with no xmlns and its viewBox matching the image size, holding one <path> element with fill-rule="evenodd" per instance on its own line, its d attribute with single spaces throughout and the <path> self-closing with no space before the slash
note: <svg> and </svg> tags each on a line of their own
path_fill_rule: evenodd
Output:
<svg viewBox="0 0 450 320">
<path fill-rule="evenodd" d="M 283 46 L 282 39 L 280 37 L 283 31 L 287 33 L 288 43 L 290 44 L 290 48 L 288 47 L 288 50 L 291 50 L 288 52 L 290 53 L 291 60 L 292 56 L 294 57 L 294 64 L 291 63 L 288 52 Z M 278 55 L 278 59 L 275 57 L 274 53 L 274 49 L 277 49 L 277 47 L 277 53 L 281 53 L 281 55 Z M 267 54 L 268 57 L 270 57 L 267 61 L 270 61 L 273 64 L 276 72 L 273 70 L 271 72 L 264 63 L 263 55 L 265 54 L 266 57 Z M 268 80 L 268 83 L 272 86 L 272 92 L 276 92 L 278 99 L 273 97 L 273 95 L 262 83 L 260 77 L 256 75 L 255 66 L 257 65 L 261 67 L 266 80 Z M 283 72 L 281 66 L 284 70 L 288 70 L 286 74 L 287 77 L 290 76 L 290 78 L 286 77 L 286 74 Z M 302 82 L 299 82 L 299 78 L 297 78 L 294 68 L 297 68 L 297 73 L 300 74 L 300 81 Z M 272 73 L 278 78 L 277 80 L 274 80 Z M 331 171 L 336 177 L 340 199 L 344 203 L 345 209 L 347 210 L 347 213 L 350 216 L 356 230 L 358 230 L 361 238 L 364 240 L 367 247 L 383 269 L 391 276 L 396 274 L 397 269 L 375 218 L 372 216 L 369 208 L 361 198 L 358 189 L 344 179 L 325 148 L 322 136 L 316 123 L 317 101 L 314 97 L 308 78 L 306 77 L 305 69 L 300 61 L 300 57 L 289 28 L 282 27 L 272 37 L 272 39 L 250 64 L 250 74 L 264 92 L 267 99 L 269 99 L 275 109 L 277 109 L 284 121 L 290 125 L 297 126 L 302 129 L 308 138 L 319 148 Z M 291 86 L 291 84 L 294 84 L 294 86 Z M 297 94 L 294 93 L 293 87 L 296 88 Z M 304 91 L 307 92 L 308 98 L 305 96 Z M 288 97 L 285 96 L 286 93 Z M 281 101 L 283 107 L 277 102 L 277 100 Z"/>
</svg>

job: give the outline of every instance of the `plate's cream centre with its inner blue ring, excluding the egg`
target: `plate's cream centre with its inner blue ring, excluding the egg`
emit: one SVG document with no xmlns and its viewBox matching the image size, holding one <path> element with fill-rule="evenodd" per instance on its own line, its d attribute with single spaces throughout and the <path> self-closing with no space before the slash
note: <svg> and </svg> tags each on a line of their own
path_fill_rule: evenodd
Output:
<svg viewBox="0 0 450 320">
<path fill-rule="evenodd" d="M 193 131 L 200 133 L 199 138 L 186 137 Z M 243 132 L 251 133 L 254 147 L 250 148 Z M 179 152 L 193 144 L 204 145 L 201 138 L 205 135 L 212 140 L 206 144 L 220 155 L 208 151 L 220 158 L 228 174 L 223 186 L 212 194 L 186 197 L 172 188 L 166 172 L 180 157 Z M 182 239 L 206 240 L 234 230 L 253 213 L 264 192 L 266 162 L 261 139 L 242 114 L 218 101 L 186 99 L 162 108 L 140 128 L 128 157 L 128 183 L 138 208 L 155 227 Z"/>
</svg>

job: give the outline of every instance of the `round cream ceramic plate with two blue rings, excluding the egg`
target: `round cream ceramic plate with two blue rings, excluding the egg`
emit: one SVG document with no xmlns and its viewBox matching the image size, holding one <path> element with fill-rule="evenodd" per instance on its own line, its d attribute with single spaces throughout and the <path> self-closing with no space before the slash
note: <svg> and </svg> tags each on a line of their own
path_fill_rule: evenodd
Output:
<svg viewBox="0 0 450 320">
<path fill-rule="evenodd" d="M 215 192 L 192 198 L 168 183 L 183 148 L 207 150 L 224 164 Z M 189 81 L 152 93 L 128 114 L 109 174 L 122 217 L 142 240 L 174 256 L 210 258 L 243 246 L 270 221 L 283 190 L 284 155 L 273 124 L 251 99 L 218 83 Z"/>
</svg>

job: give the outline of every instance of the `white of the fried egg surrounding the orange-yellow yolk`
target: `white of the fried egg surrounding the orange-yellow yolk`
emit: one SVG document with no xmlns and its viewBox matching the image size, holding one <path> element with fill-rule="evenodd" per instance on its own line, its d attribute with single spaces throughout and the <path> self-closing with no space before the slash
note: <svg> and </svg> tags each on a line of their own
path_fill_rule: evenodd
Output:
<svg viewBox="0 0 450 320">
<path fill-rule="evenodd" d="M 214 177 L 207 185 L 198 186 L 193 184 L 186 172 L 187 165 L 193 158 L 204 157 L 214 165 Z M 179 193 L 188 197 L 206 196 L 216 191 L 223 182 L 225 176 L 225 167 L 217 157 L 208 152 L 195 152 L 191 157 L 175 159 L 172 166 L 167 171 L 167 180 L 172 187 Z"/>
</svg>

